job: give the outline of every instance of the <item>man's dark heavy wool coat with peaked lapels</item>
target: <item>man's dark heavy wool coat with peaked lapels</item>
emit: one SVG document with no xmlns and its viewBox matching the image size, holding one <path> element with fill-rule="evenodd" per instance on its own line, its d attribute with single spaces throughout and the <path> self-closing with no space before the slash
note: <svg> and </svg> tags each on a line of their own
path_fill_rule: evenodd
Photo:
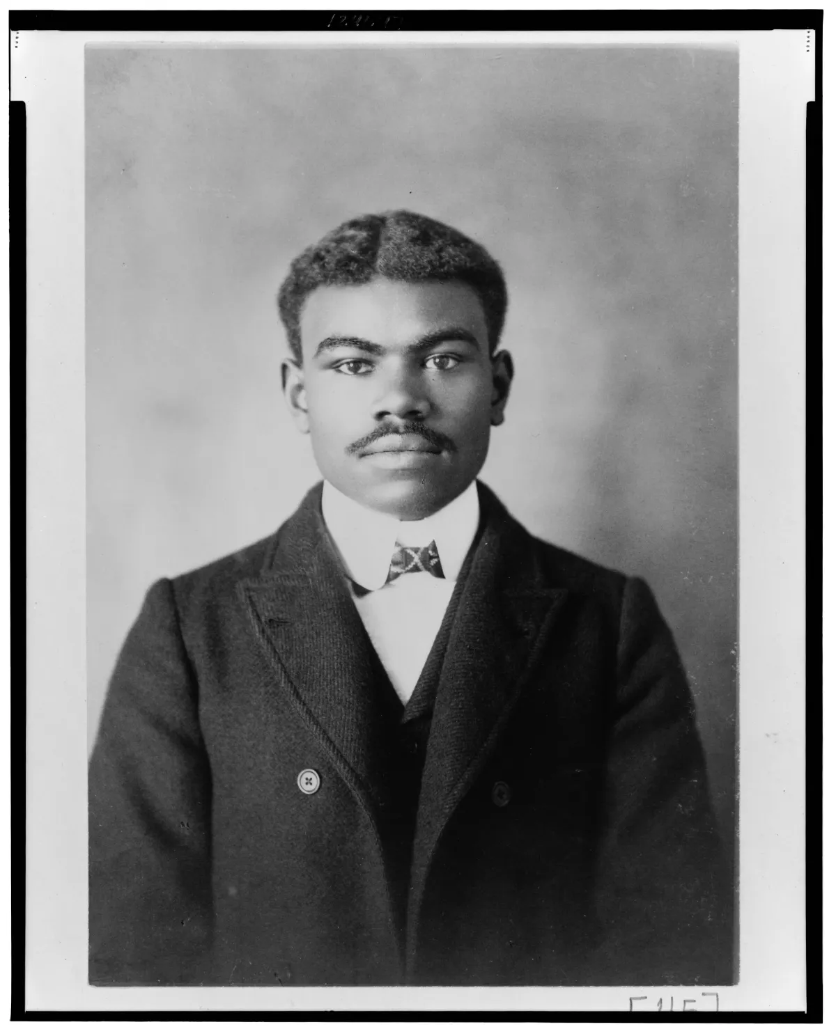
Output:
<svg viewBox="0 0 836 1036">
<path fill-rule="evenodd" d="M 368 640 L 317 486 L 274 536 L 157 582 L 129 634 L 90 764 L 92 982 L 731 980 L 694 706 L 650 591 L 479 492 L 406 928 Z"/>
</svg>

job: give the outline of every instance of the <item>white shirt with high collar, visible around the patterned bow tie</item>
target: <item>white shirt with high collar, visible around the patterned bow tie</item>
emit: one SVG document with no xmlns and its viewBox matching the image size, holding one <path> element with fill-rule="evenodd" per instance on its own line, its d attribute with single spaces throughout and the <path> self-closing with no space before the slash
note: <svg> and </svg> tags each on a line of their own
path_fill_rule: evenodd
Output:
<svg viewBox="0 0 836 1036">
<path fill-rule="evenodd" d="M 476 483 L 420 521 L 400 521 L 323 486 L 323 518 L 346 574 L 370 593 L 354 602 L 397 696 L 406 704 L 450 603 L 455 580 L 479 527 Z M 426 547 L 436 541 L 444 578 L 408 572 L 386 579 L 395 546 Z"/>
</svg>

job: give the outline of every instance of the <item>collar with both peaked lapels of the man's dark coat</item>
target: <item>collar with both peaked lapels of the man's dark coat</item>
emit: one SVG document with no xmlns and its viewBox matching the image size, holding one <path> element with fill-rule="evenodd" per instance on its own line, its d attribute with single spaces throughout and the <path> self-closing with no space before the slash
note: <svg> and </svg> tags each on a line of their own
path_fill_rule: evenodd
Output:
<svg viewBox="0 0 836 1036">
<path fill-rule="evenodd" d="M 436 846 L 536 664 L 566 591 L 549 584 L 536 542 L 478 484 L 479 542 L 450 629 L 427 744 L 413 852 L 408 967 Z M 322 484 L 276 534 L 261 575 L 240 592 L 296 707 L 374 817 L 375 745 L 367 638 L 323 522 Z"/>
</svg>

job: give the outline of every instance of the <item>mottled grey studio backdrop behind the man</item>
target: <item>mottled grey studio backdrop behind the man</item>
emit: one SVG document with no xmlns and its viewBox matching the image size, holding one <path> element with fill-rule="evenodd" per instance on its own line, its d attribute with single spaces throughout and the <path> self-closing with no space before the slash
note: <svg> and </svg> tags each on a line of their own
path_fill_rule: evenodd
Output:
<svg viewBox="0 0 836 1036">
<path fill-rule="evenodd" d="M 502 263 L 517 380 L 482 478 L 650 582 L 730 839 L 736 53 L 90 47 L 86 170 L 90 746 L 149 583 L 318 478 L 280 395 L 288 262 L 408 207 Z"/>
</svg>

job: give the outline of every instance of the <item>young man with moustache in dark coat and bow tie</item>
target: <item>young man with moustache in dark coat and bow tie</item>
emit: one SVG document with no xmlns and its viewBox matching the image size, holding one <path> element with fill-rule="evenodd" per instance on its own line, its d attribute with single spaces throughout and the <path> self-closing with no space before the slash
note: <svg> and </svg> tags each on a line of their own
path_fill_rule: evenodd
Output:
<svg viewBox="0 0 836 1036">
<path fill-rule="evenodd" d="M 397 211 L 291 265 L 324 483 L 148 593 L 90 765 L 91 981 L 731 980 L 694 707 L 650 591 L 476 482 L 497 263 Z"/>
</svg>

